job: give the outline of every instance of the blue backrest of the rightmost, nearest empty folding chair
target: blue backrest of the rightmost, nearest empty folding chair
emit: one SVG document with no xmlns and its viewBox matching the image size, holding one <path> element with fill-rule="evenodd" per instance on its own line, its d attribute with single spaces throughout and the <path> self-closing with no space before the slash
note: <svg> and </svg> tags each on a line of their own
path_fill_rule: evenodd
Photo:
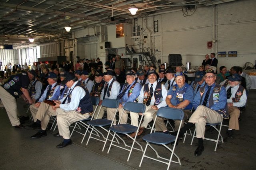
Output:
<svg viewBox="0 0 256 170">
<path fill-rule="evenodd" d="M 156 113 L 157 116 L 172 120 L 183 120 L 184 112 L 181 109 L 174 109 L 170 107 L 160 107 Z"/>
</svg>

